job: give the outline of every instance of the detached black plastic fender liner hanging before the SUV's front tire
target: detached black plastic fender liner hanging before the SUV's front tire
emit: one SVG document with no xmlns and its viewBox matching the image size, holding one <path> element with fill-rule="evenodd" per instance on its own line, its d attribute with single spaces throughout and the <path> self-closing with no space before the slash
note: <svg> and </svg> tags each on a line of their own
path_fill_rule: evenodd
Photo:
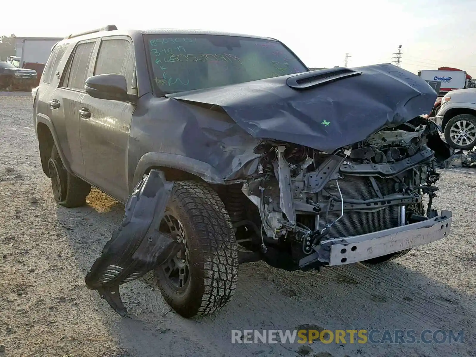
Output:
<svg viewBox="0 0 476 357">
<path fill-rule="evenodd" d="M 177 240 L 159 232 L 173 182 L 151 170 L 129 196 L 120 227 L 102 249 L 85 281 L 120 315 L 127 316 L 119 285 L 138 279 L 180 250 Z"/>
</svg>

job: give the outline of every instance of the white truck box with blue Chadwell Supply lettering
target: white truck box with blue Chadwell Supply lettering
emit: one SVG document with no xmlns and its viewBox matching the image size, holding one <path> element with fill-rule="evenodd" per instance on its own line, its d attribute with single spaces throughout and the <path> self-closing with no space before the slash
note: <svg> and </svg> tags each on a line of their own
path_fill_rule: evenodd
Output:
<svg viewBox="0 0 476 357">
<path fill-rule="evenodd" d="M 418 76 L 425 79 L 440 96 L 450 90 L 466 88 L 466 75 L 463 70 L 422 69 L 418 71 Z"/>
</svg>

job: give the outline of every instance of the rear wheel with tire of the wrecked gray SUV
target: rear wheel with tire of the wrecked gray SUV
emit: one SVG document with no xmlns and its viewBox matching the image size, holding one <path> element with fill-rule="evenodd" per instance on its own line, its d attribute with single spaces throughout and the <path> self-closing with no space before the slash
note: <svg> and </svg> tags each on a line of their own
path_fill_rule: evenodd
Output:
<svg viewBox="0 0 476 357">
<path fill-rule="evenodd" d="M 65 169 L 56 145 L 51 149 L 48 168 L 55 201 L 68 208 L 83 206 L 91 191 L 91 185 Z"/>
</svg>

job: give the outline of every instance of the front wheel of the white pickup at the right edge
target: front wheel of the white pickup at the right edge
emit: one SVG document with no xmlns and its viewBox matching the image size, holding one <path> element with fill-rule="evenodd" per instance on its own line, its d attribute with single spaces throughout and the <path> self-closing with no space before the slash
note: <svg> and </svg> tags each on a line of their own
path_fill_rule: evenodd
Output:
<svg viewBox="0 0 476 357">
<path fill-rule="evenodd" d="M 446 142 L 455 149 L 471 150 L 476 145 L 476 117 L 459 114 L 446 123 Z"/>
</svg>

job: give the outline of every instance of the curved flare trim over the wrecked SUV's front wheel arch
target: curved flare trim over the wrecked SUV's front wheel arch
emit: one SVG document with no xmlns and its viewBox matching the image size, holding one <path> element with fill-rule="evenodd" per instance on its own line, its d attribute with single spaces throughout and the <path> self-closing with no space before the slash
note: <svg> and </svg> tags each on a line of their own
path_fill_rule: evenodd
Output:
<svg viewBox="0 0 476 357">
<path fill-rule="evenodd" d="M 178 169 L 202 178 L 208 183 L 225 183 L 223 177 L 218 174 L 217 169 L 206 162 L 188 158 L 183 155 L 163 152 L 148 152 L 142 155 L 139 159 L 134 171 L 132 182 L 129 182 L 129 190 L 132 190 L 132 188 L 142 179 L 143 175 L 153 167 Z"/>
</svg>

